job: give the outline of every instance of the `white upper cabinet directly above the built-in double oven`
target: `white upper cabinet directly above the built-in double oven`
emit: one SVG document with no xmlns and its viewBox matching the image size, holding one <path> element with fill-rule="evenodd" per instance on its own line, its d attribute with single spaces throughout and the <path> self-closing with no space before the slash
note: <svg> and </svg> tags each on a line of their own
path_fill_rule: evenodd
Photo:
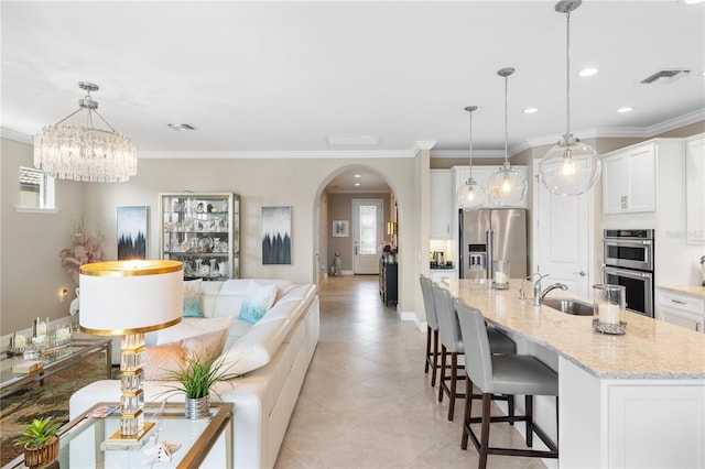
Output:
<svg viewBox="0 0 705 469">
<path fill-rule="evenodd" d="M 603 212 L 655 210 L 657 142 L 629 146 L 603 156 Z"/>
</svg>

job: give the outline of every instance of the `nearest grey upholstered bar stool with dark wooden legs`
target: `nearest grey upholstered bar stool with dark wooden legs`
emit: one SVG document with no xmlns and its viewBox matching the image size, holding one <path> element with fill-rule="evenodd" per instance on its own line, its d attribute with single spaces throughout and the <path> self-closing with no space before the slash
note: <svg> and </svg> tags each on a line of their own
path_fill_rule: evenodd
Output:
<svg viewBox="0 0 705 469">
<path fill-rule="evenodd" d="M 557 458 L 558 448 L 549 436 L 533 423 L 533 396 L 558 395 L 558 375 L 533 356 L 492 355 L 485 318 L 478 309 L 455 301 L 460 330 L 465 337 L 467 361 L 465 364 L 466 385 L 477 386 L 482 393 L 482 416 L 471 417 L 473 400 L 465 400 L 465 419 L 460 447 L 467 448 L 468 436 L 480 454 L 478 468 L 487 466 L 488 455 L 527 456 L 534 458 Z M 490 416 L 492 394 L 523 394 L 525 415 Z M 556 402 L 557 403 L 557 402 Z M 557 405 L 556 405 L 557 412 Z M 489 425 L 491 422 L 525 422 L 527 446 L 533 444 L 535 433 L 549 447 L 547 451 L 489 447 Z M 480 440 L 470 424 L 480 423 Z"/>
</svg>

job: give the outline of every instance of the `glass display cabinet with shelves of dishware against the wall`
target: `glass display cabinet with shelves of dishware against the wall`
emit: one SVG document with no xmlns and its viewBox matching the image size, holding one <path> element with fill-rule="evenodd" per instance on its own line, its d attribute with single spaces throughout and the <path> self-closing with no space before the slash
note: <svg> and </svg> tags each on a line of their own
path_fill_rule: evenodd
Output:
<svg viewBox="0 0 705 469">
<path fill-rule="evenodd" d="M 240 276 L 240 196 L 160 194 L 161 258 L 182 261 L 184 279 Z"/>
</svg>

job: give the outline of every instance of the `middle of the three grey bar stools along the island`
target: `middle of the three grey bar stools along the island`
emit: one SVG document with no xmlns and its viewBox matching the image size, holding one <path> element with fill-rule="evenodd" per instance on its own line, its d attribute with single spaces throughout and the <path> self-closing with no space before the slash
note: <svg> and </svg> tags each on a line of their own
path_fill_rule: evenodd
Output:
<svg viewBox="0 0 705 469">
<path fill-rule="evenodd" d="M 464 370 L 464 366 L 458 364 L 458 357 L 465 355 L 463 336 L 460 334 L 460 325 L 458 316 L 455 312 L 454 298 L 451 293 L 437 283 L 433 284 L 433 299 L 436 307 L 438 319 L 438 337 L 441 339 L 441 378 L 438 379 L 438 402 L 443 402 L 443 395 L 447 394 L 448 421 L 453 421 L 455 414 L 455 400 L 466 397 L 466 393 L 473 397 L 473 388 L 467 388 L 466 393 L 457 392 L 458 379 L 463 380 L 464 375 L 458 375 L 459 370 Z M 496 329 L 490 329 L 490 348 L 492 353 L 514 353 L 517 345 L 509 337 L 505 336 Z M 446 377 L 447 367 L 446 356 L 451 355 L 451 375 Z M 449 385 L 447 382 L 451 382 Z M 479 394 L 475 394 L 479 399 Z M 513 397 L 507 395 L 496 395 L 495 399 L 508 401 L 510 413 L 513 415 Z"/>
</svg>

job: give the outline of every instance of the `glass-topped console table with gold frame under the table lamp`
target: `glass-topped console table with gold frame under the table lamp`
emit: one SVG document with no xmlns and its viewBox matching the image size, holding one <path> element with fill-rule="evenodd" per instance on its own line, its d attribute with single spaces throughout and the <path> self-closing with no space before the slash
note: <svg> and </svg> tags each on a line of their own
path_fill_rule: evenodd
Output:
<svg viewBox="0 0 705 469">
<path fill-rule="evenodd" d="M 91 417 L 97 407 L 118 406 L 107 417 Z M 232 467 L 232 404 L 210 404 L 210 417 L 186 418 L 184 403 L 150 403 L 144 405 L 145 422 L 153 422 L 154 429 L 139 450 L 100 449 L 100 445 L 120 426 L 119 404 L 101 402 L 74 418 L 61 429 L 58 467 L 61 468 L 141 468 L 156 444 L 181 444 L 172 454 L 172 460 L 154 465 L 159 468 L 200 467 L 212 448 L 224 434 L 226 467 Z M 18 456 L 6 468 L 23 468 L 23 456 Z"/>
</svg>

